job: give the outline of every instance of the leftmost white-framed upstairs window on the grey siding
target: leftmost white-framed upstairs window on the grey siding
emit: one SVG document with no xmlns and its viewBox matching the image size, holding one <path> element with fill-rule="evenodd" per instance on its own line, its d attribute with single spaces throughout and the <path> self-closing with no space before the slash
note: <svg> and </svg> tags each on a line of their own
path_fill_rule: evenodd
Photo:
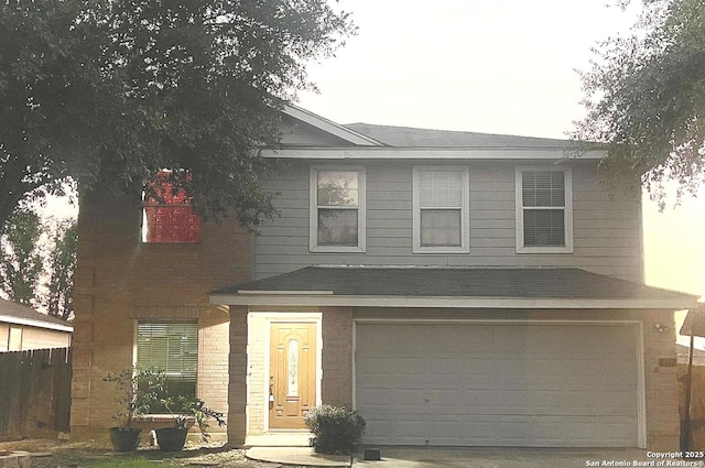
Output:
<svg viewBox="0 0 705 468">
<path fill-rule="evenodd" d="M 311 168 L 312 252 L 365 251 L 365 168 Z"/>
</svg>

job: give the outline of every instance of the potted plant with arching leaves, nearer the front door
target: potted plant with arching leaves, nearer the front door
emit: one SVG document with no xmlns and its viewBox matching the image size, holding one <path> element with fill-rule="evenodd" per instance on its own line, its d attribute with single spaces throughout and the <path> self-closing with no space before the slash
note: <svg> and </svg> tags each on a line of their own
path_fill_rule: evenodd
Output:
<svg viewBox="0 0 705 468">
<path fill-rule="evenodd" d="M 188 427 L 198 426 L 203 442 L 208 442 L 209 420 L 216 420 L 219 426 L 225 425 L 224 414 L 206 406 L 205 402 L 194 396 L 178 395 L 161 400 L 162 404 L 171 413 L 174 425 L 155 429 L 156 444 L 162 451 L 177 451 L 184 448 Z M 177 412 L 172 409 L 177 407 Z"/>
</svg>

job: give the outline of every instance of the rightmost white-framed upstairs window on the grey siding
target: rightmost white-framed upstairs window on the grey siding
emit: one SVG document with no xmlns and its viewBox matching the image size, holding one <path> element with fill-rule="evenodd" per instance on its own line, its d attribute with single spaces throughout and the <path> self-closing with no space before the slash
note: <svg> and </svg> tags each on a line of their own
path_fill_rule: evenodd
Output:
<svg viewBox="0 0 705 468">
<path fill-rule="evenodd" d="M 517 167 L 517 252 L 573 252 L 568 167 Z"/>
</svg>

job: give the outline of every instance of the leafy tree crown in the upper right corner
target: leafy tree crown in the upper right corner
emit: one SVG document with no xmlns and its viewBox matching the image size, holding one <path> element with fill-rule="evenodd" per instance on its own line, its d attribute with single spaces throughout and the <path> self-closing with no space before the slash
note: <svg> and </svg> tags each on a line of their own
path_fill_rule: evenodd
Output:
<svg viewBox="0 0 705 468">
<path fill-rule="evenodd" d="M 606 143 L 607 177 L 643 184 L 661 207 L 665 181 L 680 198 L 705 179 L 704 24 L 702 0 L 644 0 L 631 35 L 603 42 L 582 74 L 574 138 Z"/>
</svg>

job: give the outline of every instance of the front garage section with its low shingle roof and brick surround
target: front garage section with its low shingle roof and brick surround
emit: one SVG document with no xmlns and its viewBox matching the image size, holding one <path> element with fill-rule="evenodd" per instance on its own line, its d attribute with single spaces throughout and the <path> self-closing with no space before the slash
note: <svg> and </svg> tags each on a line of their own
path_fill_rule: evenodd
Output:
<svg viewBox="0 0 705 468">
<path fill-rule="evenodd" d="M 319 314 L 317 401 L 357 409 L 365 444 L 679 447 L 673 311 L 695 296 L 572 268 L 306 266 L 212 301 L 238 324 Z M 229 431 L 261 425 L 270 377 L 231 390 L 250 413 Z"/>
</svg>

